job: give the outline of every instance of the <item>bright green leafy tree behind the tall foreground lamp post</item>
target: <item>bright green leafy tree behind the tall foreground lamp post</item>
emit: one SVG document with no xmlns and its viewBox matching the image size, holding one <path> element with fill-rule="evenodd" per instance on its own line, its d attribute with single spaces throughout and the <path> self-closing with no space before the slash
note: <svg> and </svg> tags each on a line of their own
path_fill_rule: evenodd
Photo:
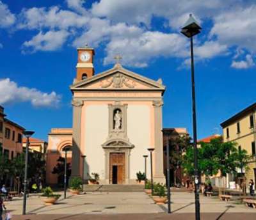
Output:
<svg viewBox="0 0 256 220">
<path fill-rule="evenodd" d="M 251 157 L 246 150 L 237 150 L 236 142 L 223 143 L 222 138 L 211 139 L 210 143 L 200 143 L 198 148 L 198 170 L 206 177 L 227 173 L 237 173 L 237 168 L 247 168 Z M 189 146 L 182 158 L 183 167 L 189 175 L 194 174 L 194 150 Z"/>
</svg>

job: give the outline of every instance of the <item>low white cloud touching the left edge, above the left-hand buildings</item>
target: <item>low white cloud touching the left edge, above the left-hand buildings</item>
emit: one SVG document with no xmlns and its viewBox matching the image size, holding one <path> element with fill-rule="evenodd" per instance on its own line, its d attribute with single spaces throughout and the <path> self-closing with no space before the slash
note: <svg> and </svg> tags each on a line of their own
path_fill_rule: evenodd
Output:
<svg viewBox="0 0 256 220">
<path fill-rule="evenodd" d="M 35 107 L 58 107 L 60 99 L 55 91 L 44 93 L 35 88 L 18 86 L 9 78 L 0 79 L 0 104 L 31 102 Z"/>
</svg>

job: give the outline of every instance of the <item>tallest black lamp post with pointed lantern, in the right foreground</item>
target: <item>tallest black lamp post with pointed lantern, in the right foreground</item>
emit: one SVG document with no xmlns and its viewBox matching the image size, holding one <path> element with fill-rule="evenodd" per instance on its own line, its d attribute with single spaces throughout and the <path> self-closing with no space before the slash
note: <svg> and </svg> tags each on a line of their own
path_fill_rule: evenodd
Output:
<svg viewBox="0 0 256 220">
<path fill-rule="evenodd" d="M 193 145 L 194 145 L 194 167 L 195 167 L 195 209 L 196 220 L 200 220 L 200 201 L 199 201 L 199 176 L 197 165 L 197 134 L 196 134 L 196 98 L 195 98 L 195 72 L 194 72 L 194 54 L 193 54 L 193 36 L 200 33 L 202 29 L 193 18 L 192 14 L 189 14 L 189 19 L 184 24 L 181 33 L 190 38 L 190 51 L 191 51 L 191 83 L 192 83 L 192 111 L 193 111 Z"/>
</svg>

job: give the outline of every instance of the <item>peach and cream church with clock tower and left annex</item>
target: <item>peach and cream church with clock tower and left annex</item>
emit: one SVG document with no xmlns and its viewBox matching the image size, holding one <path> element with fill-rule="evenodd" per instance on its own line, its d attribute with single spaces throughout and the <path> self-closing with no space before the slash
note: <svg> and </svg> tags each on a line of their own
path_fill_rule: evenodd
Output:
<svg viewBox="0 0 256 220">
<path fill-rule="evenodd" d="M 52 168 L 63 148 L 71 146 L 72 177 L 88 180 L 98 173 L 100 184 L 135 184 L 136 173 L 145 170 L 143 155 L 154 148 L 154 182 L 164 183 L 161 79 L 143 77 L 119 62 L 94 74 L 93 56 L 92 48 L 77 49 L 77 75 L 70 86 L 73 127 L 49 134 L 47 182 L 56 183 Z"/>
</svg>

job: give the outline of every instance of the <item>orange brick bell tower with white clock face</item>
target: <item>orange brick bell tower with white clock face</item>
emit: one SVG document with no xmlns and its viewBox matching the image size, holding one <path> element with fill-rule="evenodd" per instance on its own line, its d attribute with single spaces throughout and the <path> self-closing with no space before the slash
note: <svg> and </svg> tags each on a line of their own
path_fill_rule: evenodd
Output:
<svg viewBox="0 0 256 220">
<path fill-rule="evenodd" d="M 93 48 L 87 45 L 77 48 L 76 82 L 94 75 L 93 56 Z"/>
</svg>

